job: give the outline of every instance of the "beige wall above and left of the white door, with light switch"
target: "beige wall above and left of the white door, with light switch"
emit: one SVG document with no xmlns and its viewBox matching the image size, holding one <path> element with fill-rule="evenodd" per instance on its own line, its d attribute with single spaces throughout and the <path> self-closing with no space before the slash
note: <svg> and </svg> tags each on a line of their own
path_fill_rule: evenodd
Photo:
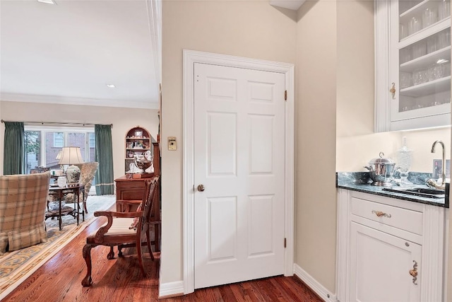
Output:
<svg viewBox="0 0 452 302">
<path fill-rule="evenodd" d="M 295 64 L 295 12 L 268 1 L 162 2 L 162 283 L 183 279 L 182 50 Z"/>
</svg>

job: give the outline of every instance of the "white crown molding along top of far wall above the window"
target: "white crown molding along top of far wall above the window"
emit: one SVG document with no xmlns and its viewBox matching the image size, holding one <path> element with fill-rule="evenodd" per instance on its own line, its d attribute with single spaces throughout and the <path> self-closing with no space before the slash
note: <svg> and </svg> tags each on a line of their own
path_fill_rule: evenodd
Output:
<svg viewBox="0 0 452 302">
<path fill-rule="evenodd" d="M 0 100 L 8 102 L 47 103 L 60 105 L 85 105 L 119 108 L 158 109 L 157 102 L 145 100 L 110 100 L 97 98 L 71 98 L 54 95 L 32 95 L 20 93 L 0 93 Z"/>
</svg>

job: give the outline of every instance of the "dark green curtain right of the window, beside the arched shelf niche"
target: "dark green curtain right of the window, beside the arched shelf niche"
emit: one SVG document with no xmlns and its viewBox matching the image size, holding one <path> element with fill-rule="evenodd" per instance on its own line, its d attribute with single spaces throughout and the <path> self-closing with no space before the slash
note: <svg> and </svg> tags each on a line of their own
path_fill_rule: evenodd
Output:
<svg viewBox="0 0 452 302">
<path fill-rule="evenodd" d="M 112 126 L 96 124 L 94 134 L 96 140 L 95 161 L 99 163 L 96 171 L 96 194 L 114 194 Z"/>
</svg>

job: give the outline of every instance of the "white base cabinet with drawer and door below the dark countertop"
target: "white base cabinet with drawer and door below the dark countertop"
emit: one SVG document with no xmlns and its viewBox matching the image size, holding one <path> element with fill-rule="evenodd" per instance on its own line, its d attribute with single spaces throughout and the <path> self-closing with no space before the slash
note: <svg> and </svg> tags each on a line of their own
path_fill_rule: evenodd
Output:
<svg viewBox="0 0 452 302">
<path fill-rule="evenodd" d="M 338 190 L 339 301 L 443 301 L 445 209 Z"/>
</svg>

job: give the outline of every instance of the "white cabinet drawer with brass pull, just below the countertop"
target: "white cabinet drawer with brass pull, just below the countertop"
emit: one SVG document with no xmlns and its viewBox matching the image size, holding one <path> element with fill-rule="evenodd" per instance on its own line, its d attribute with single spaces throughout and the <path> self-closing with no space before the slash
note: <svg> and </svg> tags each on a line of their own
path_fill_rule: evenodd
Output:
<svg viewBox="0 0 452 302">
<path fill-rule="evenodd" d="M 422 236 L 422 212 L 352 197 L 352 215 Z M 352 218 L 353 220 L 353 218 Z"/>
</svg>

